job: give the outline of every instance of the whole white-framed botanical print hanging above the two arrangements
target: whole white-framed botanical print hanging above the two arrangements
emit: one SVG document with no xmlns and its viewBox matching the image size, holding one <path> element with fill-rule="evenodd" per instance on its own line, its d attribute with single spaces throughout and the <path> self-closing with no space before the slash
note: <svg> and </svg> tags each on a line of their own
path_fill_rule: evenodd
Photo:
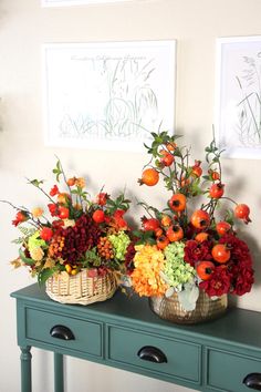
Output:
<svg viewBox="0 0 261 392">
<path fill-rule="evenodd" d="M 143 152 L 174 131 L 176 41 L 43 45 L 44 143 Z"/>
</svg>

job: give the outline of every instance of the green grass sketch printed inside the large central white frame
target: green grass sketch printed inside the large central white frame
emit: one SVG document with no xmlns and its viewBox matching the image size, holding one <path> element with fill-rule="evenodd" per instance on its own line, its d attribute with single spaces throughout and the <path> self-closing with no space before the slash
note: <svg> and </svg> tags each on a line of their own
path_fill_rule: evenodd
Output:
<svg viewBox="0 0 261 392">
<path fill-rule="evenodd" d="M 69 104 L 60 123 L 60 136 L 112 141 L 147 138 L 146 130 L 155 130 L 159 121 L 157 95 L 150 85 L 154 59 L 104 56 L 86 65 L 88 78 L 97 83 L 92 92 L 101 110 L 94 116 L 87 104 L 79 112 Z"/>
</svg>

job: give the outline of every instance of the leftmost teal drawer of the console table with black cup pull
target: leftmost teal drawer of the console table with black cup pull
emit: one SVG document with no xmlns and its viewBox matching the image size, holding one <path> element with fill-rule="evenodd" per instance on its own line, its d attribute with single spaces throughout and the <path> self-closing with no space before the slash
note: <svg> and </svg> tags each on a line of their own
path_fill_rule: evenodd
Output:
<svg viewBox="0 0 261 392">
<path fill-rule="evenodd" d="M 72 353 L 102 357 L 102 323 L 70 316 L 55 314 L 35 308 L 25 309 L 27 339 L 61 347 Z"/>
</svg>

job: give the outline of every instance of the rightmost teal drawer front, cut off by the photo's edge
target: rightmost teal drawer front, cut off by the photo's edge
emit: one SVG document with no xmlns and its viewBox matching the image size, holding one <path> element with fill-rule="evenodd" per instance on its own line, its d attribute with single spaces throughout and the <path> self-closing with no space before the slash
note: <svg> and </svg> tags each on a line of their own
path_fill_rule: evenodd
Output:
<svg viewBox="0 0 261 392">
<path fill-rule="evenodd" d="M 247 392 L 243 379 L 250 373 L 261 373 L 261 360 L 212 348 L 207 350 L 207 385 L 215 391 Z"/>
</svg>

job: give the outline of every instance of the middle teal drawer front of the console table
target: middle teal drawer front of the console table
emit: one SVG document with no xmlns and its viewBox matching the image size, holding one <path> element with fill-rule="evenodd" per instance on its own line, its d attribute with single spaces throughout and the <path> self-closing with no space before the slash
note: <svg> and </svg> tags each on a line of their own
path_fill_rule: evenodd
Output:
<svg viewBox="0 0 261 392">
<path fill-rule="evenodd" d="M 140 359 L 140 349 L 147 347 L 160 350 L 167 362 L 155 363 Z M 147 375 L 154 373 L 200 382 L 201 345 L 182 340 L 109 326 L 108 360 L 132 365 L 134 371 L 142 369 Z"/>
</svg>

